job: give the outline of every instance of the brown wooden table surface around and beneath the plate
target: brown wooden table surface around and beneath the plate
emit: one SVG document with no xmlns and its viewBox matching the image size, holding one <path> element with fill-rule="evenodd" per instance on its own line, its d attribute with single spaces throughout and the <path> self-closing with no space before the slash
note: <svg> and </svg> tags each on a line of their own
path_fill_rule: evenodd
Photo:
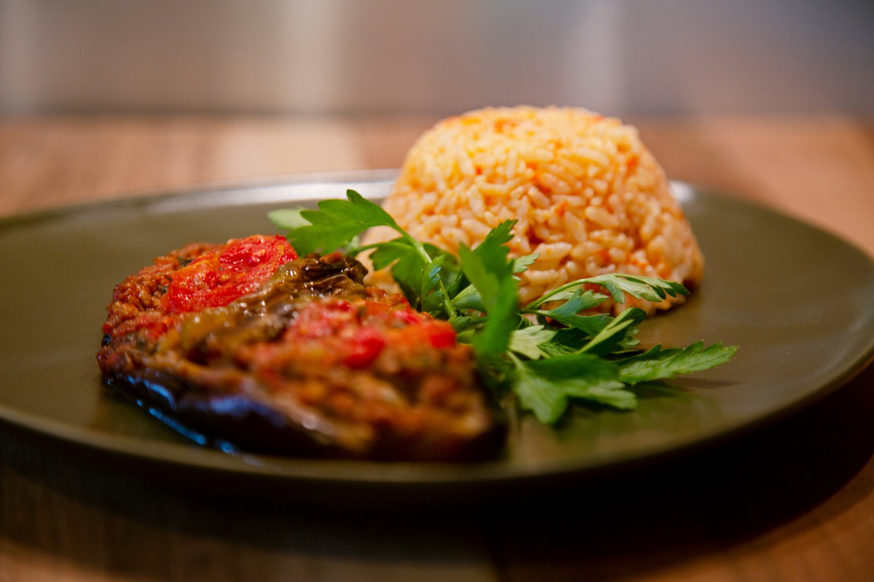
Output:
<svg viewBox="0 0 874 582">
<path fill-rule="evenodd" d="M 206 181 L 394 168 L 433 121 L 0 120 L 0 214 Z M 870 120 L 632 121 L 671 178 L 771 205 L 874 255 Z M 204 497 L 0 433 L 0 580 L 874 580 L 872 455 L 874 366 L 740 440 L 464 511 Z"/>
</svg>

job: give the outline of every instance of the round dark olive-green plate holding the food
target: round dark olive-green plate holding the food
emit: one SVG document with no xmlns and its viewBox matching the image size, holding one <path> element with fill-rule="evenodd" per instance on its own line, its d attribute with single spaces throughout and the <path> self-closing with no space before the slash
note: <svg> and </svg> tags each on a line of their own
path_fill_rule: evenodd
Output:
<svg viewBox="0 0 874 582">
<path fill-rule="evenodd" d="M 676 184 L 707 257 L 686 305 L 652 318 L 645 344 L 740 346 L 683 393 L 636 412 L 579 408 L 558 428 L 525 419 L 503 458 L 475 465 L 230 455 L 200 447 L 105 394 L 94 361 L 115 284 L 191 241 L 274 232 L 268 209 L 385 195 L 393 173 L 304 176 L 0 222 L 0 420 L 110 467 L 248 495 L 460 500 L 653 460 L 752 428 L 850 380 L 874 352 L 874 264 L 848 243 L 769 210 Z"/>
</svg>

